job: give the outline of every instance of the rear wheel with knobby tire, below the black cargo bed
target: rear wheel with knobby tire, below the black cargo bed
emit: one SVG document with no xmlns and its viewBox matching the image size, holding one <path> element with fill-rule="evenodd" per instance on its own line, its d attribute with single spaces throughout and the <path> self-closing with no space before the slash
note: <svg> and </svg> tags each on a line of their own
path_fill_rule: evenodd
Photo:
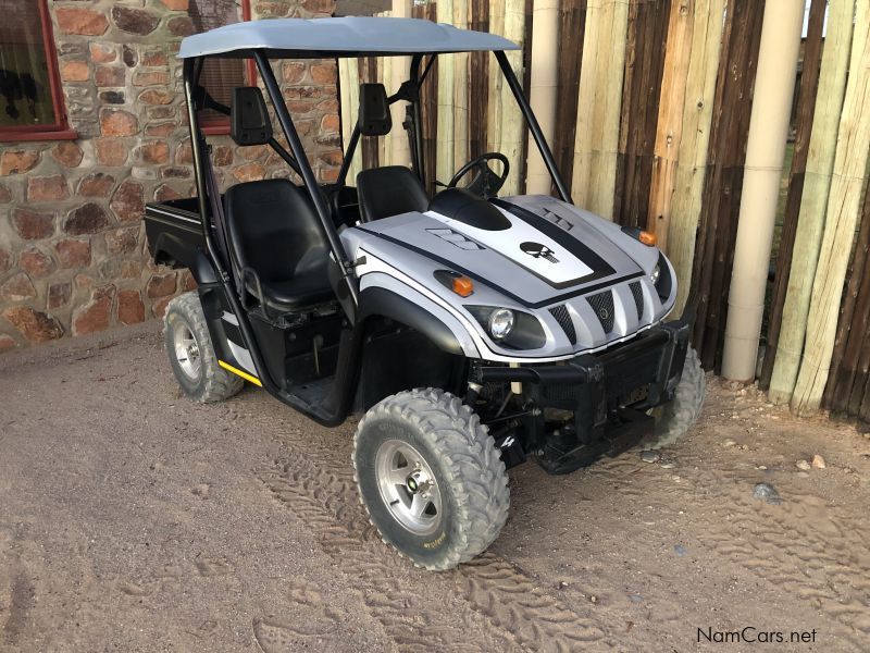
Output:
<svg viewBox="0 0 870 653">
<path fill-rule="evenodd" d="M 241 390 L 245 381 L 217 365 L 196 292 L 178 295 L 170 301 L 164 322 L 170 365 L 188 397 L 208 404 L 228 399 Z M 186 343 L 190 343 L 189 347 L 185 347 Z M 184 349 L 187 349 L 186 355 Z"/>
</svg>

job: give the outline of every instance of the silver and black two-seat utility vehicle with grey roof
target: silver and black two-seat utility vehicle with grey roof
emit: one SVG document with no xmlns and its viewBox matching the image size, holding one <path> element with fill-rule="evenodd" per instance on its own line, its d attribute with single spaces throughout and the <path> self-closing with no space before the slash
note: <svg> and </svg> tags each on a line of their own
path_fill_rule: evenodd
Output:
<svg viewBox="0 0 870 653">
<path fill-rule="evenodd" d="M 360 498 L 385 542 L 427 569 L 496 539 L 507 468 L 532 457 L 564 473 L 656 430 L 673 438 L 704 394 L 688 320 L 664 322 L 671 264 L 649 234 L 572 206 L 506 58 L 517 48 L 412 19 L 269 20 L 189 36 L 179 57 L 197 197 L 146 208 L 154 260 L 198 284 L 165 317 L 183 391 L 215 402 L 248 381 L 322 424 L 364 414 L 352 455 Z M 437 57 L 473 51 L 494 54 L 558 199 L 498 197 L 511 172 L 499 152 L 426 192 L 421 84 Z M 361 85 L 338 180 L 320 184 L 271 60 L 362 56 L 409 56 L 408 79 L 391 94 Z M 203 62 L 227 57 L 256 62 L 269 104 L 259 86 L 234 88 L 229 107 L 202 89 Z M 270 146 L 287 178 L 221 194 L 206 109 L 228 114 L 239 146 Z M 401 128 L 410 168 L 347 178 L 361 138 Z"/>
</svg>

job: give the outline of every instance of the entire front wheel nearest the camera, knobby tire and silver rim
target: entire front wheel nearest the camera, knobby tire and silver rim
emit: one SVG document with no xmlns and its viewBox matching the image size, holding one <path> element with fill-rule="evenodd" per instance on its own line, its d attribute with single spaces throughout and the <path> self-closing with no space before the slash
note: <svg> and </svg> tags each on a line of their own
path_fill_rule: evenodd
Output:
<svg viewBox="0 0 870 653">
<path fill-rule="evenodd" d="M 353 470 L 372 525 L 418 567 L 470 560 L 508 518 L 508 476 L 495 442 L 471 408 L 442 390 L 401 392 L 371 408 L 353 436 Z M 431 504 L 415 518 L 418 494 Z"/>
</svg>

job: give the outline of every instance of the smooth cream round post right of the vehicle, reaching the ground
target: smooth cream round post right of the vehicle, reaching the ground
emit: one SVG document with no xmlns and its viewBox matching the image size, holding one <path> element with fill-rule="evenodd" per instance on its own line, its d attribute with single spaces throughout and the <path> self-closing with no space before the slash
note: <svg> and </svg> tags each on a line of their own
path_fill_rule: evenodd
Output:
<svg viewBox="0 0 870 653">
<path fill-rule="evenodd" d="M 803 24 L 801 4 L 765 4 L 722 353 L 736 381 L 755 379 Z"/>
</svg>

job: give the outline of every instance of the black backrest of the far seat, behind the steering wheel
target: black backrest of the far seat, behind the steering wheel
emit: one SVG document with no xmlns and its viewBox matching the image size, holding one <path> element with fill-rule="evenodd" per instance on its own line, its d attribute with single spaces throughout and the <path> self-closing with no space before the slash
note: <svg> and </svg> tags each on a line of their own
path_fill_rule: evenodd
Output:
<svg viewBox="0 0 870 653">
<path fill-rule="evenodd" d="M 363 170 L 357 175 L 357 193 L 363 222 L 428 209 L 423 182 L 403 165 Z"/>
</svg>

